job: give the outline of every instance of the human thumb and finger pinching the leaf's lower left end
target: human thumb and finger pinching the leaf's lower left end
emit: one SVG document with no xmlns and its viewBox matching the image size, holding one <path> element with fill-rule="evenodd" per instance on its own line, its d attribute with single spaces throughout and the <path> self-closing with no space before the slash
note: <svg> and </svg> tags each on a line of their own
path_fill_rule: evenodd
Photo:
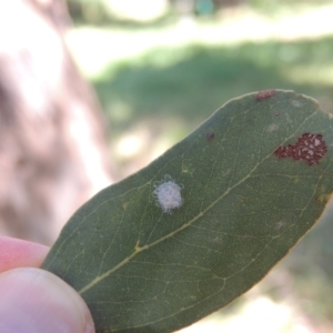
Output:
<svg viewBox="0 0 333 333">
<path fill-rule="evenodd" d="M 93 333 L 89 309 L 57 275 L 38 269 L 49 248 L 0 236 L 0 332 Z"/>
</svg>

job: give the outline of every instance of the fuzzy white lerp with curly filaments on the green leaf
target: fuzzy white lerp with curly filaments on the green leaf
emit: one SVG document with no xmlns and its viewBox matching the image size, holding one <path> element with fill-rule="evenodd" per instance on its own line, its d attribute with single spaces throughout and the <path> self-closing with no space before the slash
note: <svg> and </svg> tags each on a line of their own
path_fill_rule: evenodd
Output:
<svg viewBox="0 0 333 333">
<path fill-rule="evenodd" d="M 164 175 L 164 180 L 155 182 L 154 188 L 153 196 L 163 213 L 172 214 L 172 210 L 182 206 L 184 202 L 181 195 L 183 185 L 176 184 L 169 174 Z"/>
</svg>

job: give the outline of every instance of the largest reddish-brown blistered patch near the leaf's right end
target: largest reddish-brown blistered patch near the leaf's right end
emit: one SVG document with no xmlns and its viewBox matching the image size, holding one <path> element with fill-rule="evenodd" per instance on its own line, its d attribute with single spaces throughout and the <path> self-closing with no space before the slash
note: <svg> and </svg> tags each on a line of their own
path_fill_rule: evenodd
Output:
<svg viewBox="0 0 333 333">
<path fill-rule="evenodd" d="M 295 161 L 305 161 L 309 165 L 317 164 L 327 152 L 322 134 L 304 133 L 295 144 L 279 147 L 274 155 L 279 159 L 292 158 Z"/>
</svg>

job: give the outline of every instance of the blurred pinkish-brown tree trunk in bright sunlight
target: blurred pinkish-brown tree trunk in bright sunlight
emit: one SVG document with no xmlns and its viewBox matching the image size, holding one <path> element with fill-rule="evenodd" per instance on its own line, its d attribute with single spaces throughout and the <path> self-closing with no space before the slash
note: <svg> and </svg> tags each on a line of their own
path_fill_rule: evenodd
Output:
<svg viewBox="0 0 333 333">
<path fill-rule="evenodd" d="M 62 0 L 0 1 L 0 233 L 51 244 L 112 181 L 105 121 L 62 34 Z"/>
</svg>

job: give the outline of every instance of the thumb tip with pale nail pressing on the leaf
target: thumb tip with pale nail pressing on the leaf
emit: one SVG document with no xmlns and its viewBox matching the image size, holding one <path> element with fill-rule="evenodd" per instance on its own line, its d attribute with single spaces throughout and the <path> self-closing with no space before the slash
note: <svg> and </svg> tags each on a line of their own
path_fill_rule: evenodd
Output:
<svg viewBox="0 0 333 333">
<path fill-rule="evenodd" d="M 0 274 L 1 333 L 93 333 L 91 314 L 64 281 L 40 269 Z"/>
</svg>

